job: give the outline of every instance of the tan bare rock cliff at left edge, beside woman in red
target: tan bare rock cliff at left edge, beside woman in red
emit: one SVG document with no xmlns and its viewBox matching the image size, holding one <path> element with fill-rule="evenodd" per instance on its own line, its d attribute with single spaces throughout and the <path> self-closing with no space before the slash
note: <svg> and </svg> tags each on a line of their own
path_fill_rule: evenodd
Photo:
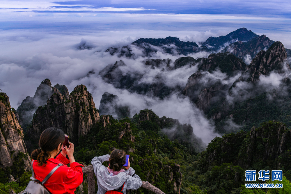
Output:
<svg viewBox="0 0 291 194">
<path fill-rule="evenodd" d="M 27 154 L 23 140 L 23 129 L 13 111 L 11 111 L 9 97 L 0 93 L 0 167 L 6 168 L 13 165 L 15 157 L 22 152 Z M 30 170 L 30 157 L 22 159 L 24 168 Z"/>
</svg>

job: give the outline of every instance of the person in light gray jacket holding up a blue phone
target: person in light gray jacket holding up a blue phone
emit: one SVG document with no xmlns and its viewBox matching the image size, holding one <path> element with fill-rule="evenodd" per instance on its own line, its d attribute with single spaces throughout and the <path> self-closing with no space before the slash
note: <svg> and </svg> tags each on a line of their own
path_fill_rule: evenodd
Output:
<svg viewBox="0 0 291 194">
<path fill-rule="evenodd" d="M 125 164 L 126 153 L 123 150 L 115 149 L 109 154 L 94 157 L 91 164 L 97 177 L 97 194 L 104 194 L 106 191 L 116 190 L 123 186 L 123 193 L 127 189 L 136 190 L 143 184 L 135 170 L 130 167 L 129 159 L 126 170 L 122 169 Z M 102 165 L 104 161 L 109 161 L 109 166 Z"/>
</svg>

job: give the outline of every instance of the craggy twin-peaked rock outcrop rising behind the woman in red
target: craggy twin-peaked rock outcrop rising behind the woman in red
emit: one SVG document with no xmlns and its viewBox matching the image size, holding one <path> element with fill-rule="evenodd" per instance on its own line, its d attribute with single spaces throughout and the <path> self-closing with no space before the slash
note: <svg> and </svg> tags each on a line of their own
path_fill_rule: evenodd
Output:
<svg viewBox="0 0 291 194">
<path fill-rule="evenodd" d="M 31 138 L 38 139 L 44 129 L 57 127 L 78 145 L 78 138 L 87 134 L 98 120 L 99 113 L 93 97 L 84 85 L 76 86 L 68 98 L 57 88 L 53 88 L 53 95 L 47 100 L 47 104 L 38 107 L 34 114 L 26 141 L 32 146 Z"/>
</svg>

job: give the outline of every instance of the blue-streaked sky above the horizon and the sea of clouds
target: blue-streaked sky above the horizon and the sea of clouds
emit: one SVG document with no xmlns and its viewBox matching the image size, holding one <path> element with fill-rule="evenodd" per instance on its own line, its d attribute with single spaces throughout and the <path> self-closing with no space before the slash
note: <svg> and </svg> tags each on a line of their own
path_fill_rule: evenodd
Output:
<svg viewBox="0 0 291 194">
<path fill-rule="evenodd" d="M 290 1 L 0 0 L 0 29 L 290 32 Z"/>
</svg>

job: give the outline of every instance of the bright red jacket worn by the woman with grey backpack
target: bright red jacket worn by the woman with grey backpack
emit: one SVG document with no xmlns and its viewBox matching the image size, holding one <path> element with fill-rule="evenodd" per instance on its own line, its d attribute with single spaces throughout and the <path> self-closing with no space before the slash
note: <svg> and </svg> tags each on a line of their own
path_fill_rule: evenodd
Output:
<svg viewBox="0 0 291 194">
<path fill-rule="evenodd" d="M 37 161 L 33 162 L 34 177 L 40 181 L 43 181 L 49 172 L 58 165 L 63 163 L 54 174 L 45 182 L 44 186 L 52 194 L 71 194 L 74 193 L 76 188 L 83 182 L 83 171 L 81 164 L 77 162 L 71 163 L 70 167 L 67 164 L 70 161 L 63 156 L 58 154 L 56 159 L 47 159 L 47 165 L 38 165 Z"/>
</svg>

